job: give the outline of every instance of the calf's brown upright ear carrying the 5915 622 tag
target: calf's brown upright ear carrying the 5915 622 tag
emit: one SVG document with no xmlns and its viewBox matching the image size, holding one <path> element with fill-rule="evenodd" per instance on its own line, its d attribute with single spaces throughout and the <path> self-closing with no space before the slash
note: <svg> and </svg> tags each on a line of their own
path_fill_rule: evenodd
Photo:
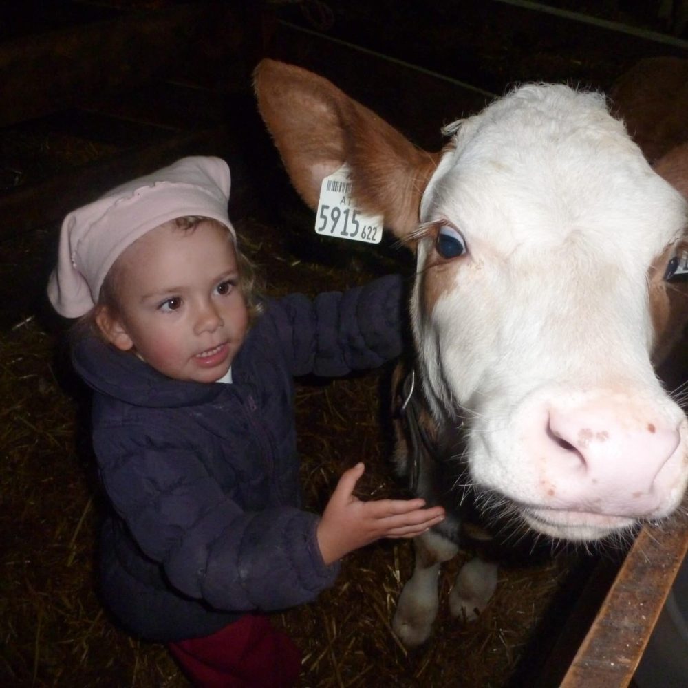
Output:
<svg viewBox="0 0 688 688">
<path fill-rule="evenodd" d="M 254 72 L 260 114 L 292 184 L 316 208 L 323 178 L 347 163 L 356 202 L 385 217 L 405 239 L 418 226 L 420 199 L 440 154 L 414 146 L 327 79 L 263 60 Z"/>
</svg>

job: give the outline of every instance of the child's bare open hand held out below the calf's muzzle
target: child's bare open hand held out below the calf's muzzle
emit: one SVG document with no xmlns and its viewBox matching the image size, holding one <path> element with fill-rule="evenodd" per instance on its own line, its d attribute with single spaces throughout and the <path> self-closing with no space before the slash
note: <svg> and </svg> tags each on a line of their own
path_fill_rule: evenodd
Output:
<svg viewBox="0 0 688 688">
<path fill-rule="evenodd" d="M 343 473 L 318 524 L 326 564 L 381 537 L 416 537 L 444 519 L 444 508 L 423 508 L 424 499 L 361 502 L 352 493 L 363 471 L 365 466 L 356 464 Z"/>
</svg>

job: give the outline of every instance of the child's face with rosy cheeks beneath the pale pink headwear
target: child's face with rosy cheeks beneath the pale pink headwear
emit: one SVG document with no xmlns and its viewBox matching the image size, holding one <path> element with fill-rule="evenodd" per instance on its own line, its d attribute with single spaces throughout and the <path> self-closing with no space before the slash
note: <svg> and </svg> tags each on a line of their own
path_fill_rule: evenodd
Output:
<svg viewBox="0 0 688 688">
<path fill-rule="evenodd" d="M 208 222 L 186 231 L 164 224 L 129 246 L 118 270 L 120 313 L 96 317 L 109 341 L 176 380 L 222 378 L 248 326 L 228 232 Z"/>
</svg>

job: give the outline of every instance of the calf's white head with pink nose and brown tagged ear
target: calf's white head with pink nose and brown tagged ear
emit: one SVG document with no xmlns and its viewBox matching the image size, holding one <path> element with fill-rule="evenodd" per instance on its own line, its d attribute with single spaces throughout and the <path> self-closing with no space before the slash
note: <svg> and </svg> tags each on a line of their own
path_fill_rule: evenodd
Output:
<svg viewBox="0 0 688 688">
<path fill-rule="evenodd" d="M 477 488 L 572 540 L 674 511 L 688 427 L 650 356 L 687 206 L 604 98 L 526 85 L 431 154 L 303 69 L 255 79 L 305 202 L 347 162 L 358 202 L 416 251 L 424 388 L 438 422 L 467 418 Z"/>
</svg>

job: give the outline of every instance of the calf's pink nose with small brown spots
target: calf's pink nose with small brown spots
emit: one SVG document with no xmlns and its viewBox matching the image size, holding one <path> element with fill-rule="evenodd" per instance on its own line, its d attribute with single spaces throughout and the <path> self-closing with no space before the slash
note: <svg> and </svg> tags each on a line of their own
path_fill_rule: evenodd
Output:
<svg viewBox="0 0 688 688">
<path fill-rule="evenodd" d="M 557 508 L 638 516 L 665 496 L 667 483 L 658 477 L 680 433 L 647 420 L 639 408 L 596 401 L 550 409 L 542 442 L 547 492 Z"/>
</svg>

